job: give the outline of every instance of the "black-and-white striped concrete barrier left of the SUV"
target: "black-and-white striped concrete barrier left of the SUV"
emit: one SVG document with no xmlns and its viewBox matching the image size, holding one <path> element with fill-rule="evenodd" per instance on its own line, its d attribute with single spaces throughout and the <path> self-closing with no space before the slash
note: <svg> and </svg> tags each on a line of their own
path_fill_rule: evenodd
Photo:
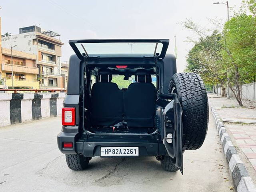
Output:
<svg viewBox="0 0 256 192">
<path fill-rule="evenodd" d="M 61 114 L 66 93 L 0 93 L 0 126 Z"/>
</svg>

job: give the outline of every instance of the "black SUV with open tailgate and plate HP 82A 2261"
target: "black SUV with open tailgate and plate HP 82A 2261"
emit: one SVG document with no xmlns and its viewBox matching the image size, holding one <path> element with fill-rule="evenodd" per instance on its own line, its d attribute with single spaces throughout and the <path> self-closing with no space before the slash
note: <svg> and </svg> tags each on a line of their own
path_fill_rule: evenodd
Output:
<svg viewBox="0 0 256 192">
<path fill-rule="evenodd" d="M 182 172 L 184 150 L 202 146 L 208 100 L 198 74 L 177 73 L 168 39 L 70 40 L 58 148 L 72 170 L 94 156 L 156 156 Z M 115 83 L 116 82 L 116 83 Z"/>
</svg>

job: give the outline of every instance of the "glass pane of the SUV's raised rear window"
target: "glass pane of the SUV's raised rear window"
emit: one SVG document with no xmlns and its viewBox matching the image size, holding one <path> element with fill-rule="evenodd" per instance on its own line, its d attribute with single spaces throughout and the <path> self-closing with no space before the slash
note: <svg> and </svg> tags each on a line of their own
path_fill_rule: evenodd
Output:
<svg viewBox="0 0 256 192">
<path fill-rule="evenodd" d="M 153 57 L 154 53 L 160 54 L 162 43 L 156 42 L 100 42 L 100 43 L 75 43 L 80 54 L 104 57 Z"/>
</svg>

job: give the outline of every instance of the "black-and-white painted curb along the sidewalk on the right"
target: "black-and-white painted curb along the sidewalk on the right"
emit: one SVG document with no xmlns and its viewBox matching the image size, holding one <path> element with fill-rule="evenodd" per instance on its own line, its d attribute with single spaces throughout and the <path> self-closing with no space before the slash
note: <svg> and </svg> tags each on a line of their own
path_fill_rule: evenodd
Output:
<svg viewBox="0 0 256 192">
<path fill-rule="evenodd" d="M 215 127 L 220 136 L 224 155 L 228 162 L 228 170 L 232 177 L 234 188 L 236 188 L 237 192 L 256 192 L 252 178 L 250 178 L 244 163 L 237 154 L 236 148 L 234 147 L 216 108 L 211 107 L 211 111 Z"/>
</svg>

